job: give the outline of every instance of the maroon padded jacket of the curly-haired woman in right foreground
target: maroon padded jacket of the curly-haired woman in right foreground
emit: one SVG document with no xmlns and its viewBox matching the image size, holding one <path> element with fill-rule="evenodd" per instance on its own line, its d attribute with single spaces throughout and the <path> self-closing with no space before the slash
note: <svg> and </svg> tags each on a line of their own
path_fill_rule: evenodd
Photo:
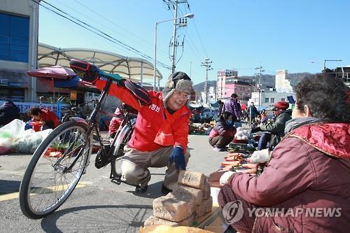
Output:
<svg viewBox="0 0 350 233">
<path fill-rule="evenodd" d="M 253 232 L 349 232 L 349 177 L 349 124 L 313 124 L 287 134 L 261 176 L 237 173 L 230 186 L 258 206 L 302 209 L 295 216 L 260 216 Z M 317 209 L 323 217 L 311 217 Z M 325 211 L 335 211 L 336 217 L 324 217 Z"/>
</svg>

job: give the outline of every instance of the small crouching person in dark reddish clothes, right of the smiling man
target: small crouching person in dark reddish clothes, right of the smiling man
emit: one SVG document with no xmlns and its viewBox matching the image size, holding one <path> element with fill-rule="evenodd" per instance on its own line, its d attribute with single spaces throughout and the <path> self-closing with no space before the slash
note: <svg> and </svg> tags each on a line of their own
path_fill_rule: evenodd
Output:
<svg viewBox="0 0 350 233">
<path fill-rule="evenodd" d="M 236 128 L 232 122 L 232 114 L 223 112 L 209 134 L 209 143 L 213 150 L 225 151 L 226 146 L 234 139 Z"/>
</svg>

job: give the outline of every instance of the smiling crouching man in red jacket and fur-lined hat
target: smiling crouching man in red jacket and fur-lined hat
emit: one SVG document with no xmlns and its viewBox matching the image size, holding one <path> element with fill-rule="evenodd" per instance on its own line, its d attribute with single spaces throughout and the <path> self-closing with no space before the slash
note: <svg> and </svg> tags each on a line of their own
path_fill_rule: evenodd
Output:
<svg viewBox="0 0 350 233">
<path fill-rule="evenodd" d="M 104 78 L 90 80 L 103 90 Z M 126 85 L 132 85 L 135 92 Z M 135 93 L 139 94 L 135 94 Z M 190 109 L 186 105 L 193 92 L 193 83 L 186 73 L 173 73 L 163 92 L 144 90 L 129 80 L 118 80 L 109 89 L 109 94 L 137 111 L 132 137 L 125 147 L 122 160 L 122 180 L 136 185 L 136 193 L 144 193 L 151 179 L 148 167 L 167 167 L 162 193 L 171 192 L 177 183 L 179 169 L 186 169 L 190 153 L 188 124 Z"/>
</svg>

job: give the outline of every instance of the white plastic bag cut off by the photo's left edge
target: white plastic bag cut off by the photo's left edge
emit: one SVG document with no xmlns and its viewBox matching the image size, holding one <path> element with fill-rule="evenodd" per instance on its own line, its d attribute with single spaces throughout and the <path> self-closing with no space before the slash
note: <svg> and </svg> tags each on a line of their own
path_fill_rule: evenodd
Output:
<svg viewBox="0 0 350 233">
<path fill-rule="evenodd" d="M 0 129 L 0 155 L 10 153 L 17 137 L 25 132 L 25 122 L 15 119 Z"/>
</svg>

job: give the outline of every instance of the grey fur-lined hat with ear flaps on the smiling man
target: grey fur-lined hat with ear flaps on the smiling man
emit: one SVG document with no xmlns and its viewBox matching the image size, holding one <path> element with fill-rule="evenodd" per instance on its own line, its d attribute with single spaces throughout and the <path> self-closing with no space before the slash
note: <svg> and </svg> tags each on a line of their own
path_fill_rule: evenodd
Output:
<svg viewBox="0 0 350 233">
<path fill-rule="evenodd" d="M 186 73 L 181 71 L 172 73 L 163 90 L 163 101 L 167 101 L 175 90 L 179 90 L 179 92 L 188 92 L 188 94 L 193 92 L 193 83 Z"/>
</svg>

